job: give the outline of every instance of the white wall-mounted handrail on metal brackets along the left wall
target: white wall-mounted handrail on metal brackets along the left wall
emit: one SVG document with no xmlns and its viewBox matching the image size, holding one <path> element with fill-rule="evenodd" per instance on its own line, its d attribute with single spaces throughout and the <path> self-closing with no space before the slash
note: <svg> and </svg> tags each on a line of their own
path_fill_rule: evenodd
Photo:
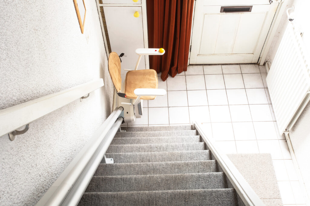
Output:
<svg viewBox="0 0 310 206">
<path fill-rule="evenodd" d="M 59 109 L 76 99 L 104 86 L 97 79 L 38 99 L 0 110 L 0 136 L 14 131 L 30 122 Z"/>
</svg>

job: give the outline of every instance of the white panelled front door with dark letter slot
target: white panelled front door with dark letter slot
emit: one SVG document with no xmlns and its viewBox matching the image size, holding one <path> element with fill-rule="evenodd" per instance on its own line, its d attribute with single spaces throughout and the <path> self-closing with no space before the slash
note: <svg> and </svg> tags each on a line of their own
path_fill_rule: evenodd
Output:
<svg viewBox="0 0 310 206">
<path fill-rule="evenodd" d="M 222 6 L 228 10 L 221 11 Z M 228 5 L 197 0 L 189 63 L 257 63 L 277 6 L 267 0 L 231 0 Z"/>
</svg>

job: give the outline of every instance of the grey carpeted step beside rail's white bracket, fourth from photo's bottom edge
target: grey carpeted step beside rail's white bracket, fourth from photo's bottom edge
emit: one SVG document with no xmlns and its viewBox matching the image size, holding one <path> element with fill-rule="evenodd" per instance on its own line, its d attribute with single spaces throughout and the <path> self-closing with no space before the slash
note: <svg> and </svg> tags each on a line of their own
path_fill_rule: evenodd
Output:
<svg viewBox="0 0 310 206">
<path fill-rule="evenodd" d="M 134 162 L 177 162 L 210 160 L 210 150 L 175 151 L 175 152 L 137 152 L 137 153 L 106 153 L 114 163 Z"/>
</svg>

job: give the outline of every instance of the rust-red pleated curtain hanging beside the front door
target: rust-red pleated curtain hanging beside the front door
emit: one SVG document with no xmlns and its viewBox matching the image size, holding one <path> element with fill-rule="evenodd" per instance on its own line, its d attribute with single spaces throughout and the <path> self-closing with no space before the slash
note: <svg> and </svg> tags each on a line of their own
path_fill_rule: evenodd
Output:
<svg viewBox="0 0 310 206">
<path fill-rule="evenodd" d="M 147 0 L 148 47 L 164 48 L 162 56 L 149 56 L 150 69 L 168 74 L 187 70 L 194 0 Z"/>
</svg>

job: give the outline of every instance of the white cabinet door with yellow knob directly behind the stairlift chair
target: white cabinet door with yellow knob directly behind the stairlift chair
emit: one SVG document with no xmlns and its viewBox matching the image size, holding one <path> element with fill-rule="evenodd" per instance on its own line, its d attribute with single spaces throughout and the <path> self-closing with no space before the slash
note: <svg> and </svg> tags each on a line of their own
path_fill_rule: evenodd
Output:
<svg viewBox="0 0 310 206">
<path fill-rule="evenodd" d="M 126 71 L 135 69 L 138 55 L 137 48 L 144 48 L 142 9 L 141 6 L 104 6 L 104 15 L 111 45 L 111 51 L 122 57 L 122 78 Z M 134 17 L 135 11 L 140 16 Z M 145 56 L 142 56 L 138 69 L 145 69 Z"/>
</svg>

